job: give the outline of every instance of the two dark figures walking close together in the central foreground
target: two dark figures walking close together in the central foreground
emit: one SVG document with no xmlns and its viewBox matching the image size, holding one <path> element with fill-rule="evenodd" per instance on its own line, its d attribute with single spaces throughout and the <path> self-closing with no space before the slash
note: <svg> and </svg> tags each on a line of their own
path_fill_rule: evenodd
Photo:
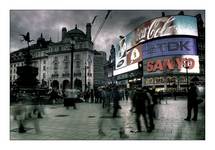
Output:
<svg viewBox="0 0 215 150">
<path fill-rule="evenodd" d="M 152 97 L 145 88 L 137 88 L 134 94 L 134 105 L 136 113 L 137 132 L 141 132 L 141 116 L 144 119 L 144 124 L 147 132 L 154 129 L 153 114 L 152 114 Z M 148 116 L 148 117 L 147 117 Z"/>
</svg>

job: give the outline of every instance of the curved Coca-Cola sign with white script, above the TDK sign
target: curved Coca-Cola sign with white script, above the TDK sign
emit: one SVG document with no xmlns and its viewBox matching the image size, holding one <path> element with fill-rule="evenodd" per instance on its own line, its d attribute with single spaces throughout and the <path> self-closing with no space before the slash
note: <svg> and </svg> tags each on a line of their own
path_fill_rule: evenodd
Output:
<svg viewBox="0 0 215 150">
<path fill-rule="evenodd" d="M 136 43 L 169 35 L 198 36 L 197 20 L 192 16 L 168 16 L 145 22 L 135 29 Z"/>
</svg>

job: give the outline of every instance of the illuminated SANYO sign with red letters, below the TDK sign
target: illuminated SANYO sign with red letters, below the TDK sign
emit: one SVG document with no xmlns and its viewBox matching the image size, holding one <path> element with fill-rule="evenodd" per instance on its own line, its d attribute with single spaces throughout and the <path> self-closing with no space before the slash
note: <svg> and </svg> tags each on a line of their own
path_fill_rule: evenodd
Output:
<svg viewBox="0 0 215 150">
<path fill-rule="evenodd" d="M 157 57 L 143 61 L 143 75 L 165 75 L 186 73 L 199 73 L 199 57 L 196 55 L 183 55 L 175 57 Z"/>
</svg>

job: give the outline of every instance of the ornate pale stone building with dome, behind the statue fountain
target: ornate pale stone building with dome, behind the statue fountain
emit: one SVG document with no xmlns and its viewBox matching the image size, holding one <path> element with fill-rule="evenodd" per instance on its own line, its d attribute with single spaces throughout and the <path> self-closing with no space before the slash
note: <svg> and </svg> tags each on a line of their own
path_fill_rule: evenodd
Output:
<svg viewBox="0 0 215 150">
<path fill-rule="evenodd" d="M 10 55 L 12 85 L 18 78 L 17 67 L 24 65 L 23 53 L 26 49 L 19 49 Z M 30 46 L 30 53 L 32 66 L 38 68 L 37 79 L 41 86 L 63 88 L 65 84 L 71 83 L 72 79 L 73 87 L 81 91 L 93 88 L 95 51 L 91 41 L 90 23 L 86 24 L 86 33 L 79 30 L 77 25 L 69 31 L 63 27 L 62 39 L 59 42 L 52 42 L 51 38 L 46 40 L 41 34 L 36 44 Z"/>
</svg>

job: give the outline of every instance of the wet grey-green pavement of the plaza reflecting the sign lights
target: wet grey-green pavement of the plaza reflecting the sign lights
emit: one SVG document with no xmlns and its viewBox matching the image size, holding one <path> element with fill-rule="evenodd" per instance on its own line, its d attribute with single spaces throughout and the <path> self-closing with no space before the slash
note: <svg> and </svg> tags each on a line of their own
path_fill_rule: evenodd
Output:
<svg viewBox="0 0 215 150">
<path fill-rule="evenodd" d="M 136 132 L 135 113 L 130 112 L 130 101 L 120 101 L 119 117 L 102 109 L 102 104 L 78 103 L 77 109 L 66 109 L 63 105 L 46 105 L 45 116 L 39 119 L 41 132 L 36 133 L 32 121 L 26 123 L 27 132 L 18 133 L 17 123 L 10 117 L 11 140 L 204 140 L 204 103 L 199 105 L 197 121 L 184 121 L 186 99 L 168 99 L 157 105 L 155 130 L 147 133 L 142 123 L 142 132 Z M 11 106 L 12 109 L 13 106 Z M 112 111 L 112 110 L 111 110 Z M 98 125 L 105 135 L 98 134 Z M 127 138 L 120 138 L 120 127 L 124 127 Z"/>
</svg>

